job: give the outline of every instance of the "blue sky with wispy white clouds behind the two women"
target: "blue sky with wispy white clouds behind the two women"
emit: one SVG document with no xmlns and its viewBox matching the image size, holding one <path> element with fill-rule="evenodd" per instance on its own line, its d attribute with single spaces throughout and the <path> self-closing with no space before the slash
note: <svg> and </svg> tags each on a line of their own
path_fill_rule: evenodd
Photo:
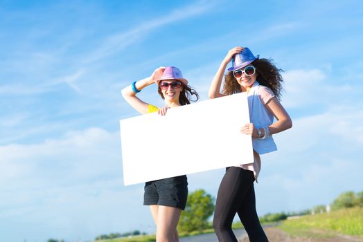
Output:
<svg viewBox="0 0 363 242">
<path fill-rule="evenodd" d="M 234 46 L 283 68 L 294 122 L 262 157 L 258 213 L 362 191 L 362 5 L 0 1 L 0 241 L 154 232 L 143 185 L 123 185 L 118 120 L 138 113 L 121 89 L 177 66 L 206 100 Z M 161 105 L 156 90 L 139 96 Z M 188 176 L 190 191 L 215 196 L 223 172 Z"/>
</svg>

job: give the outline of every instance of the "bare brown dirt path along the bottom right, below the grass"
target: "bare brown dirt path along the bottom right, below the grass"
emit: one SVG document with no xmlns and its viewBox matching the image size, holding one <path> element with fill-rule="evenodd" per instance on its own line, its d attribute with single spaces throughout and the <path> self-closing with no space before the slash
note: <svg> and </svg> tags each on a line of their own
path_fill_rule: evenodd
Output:
<svg viewBox="0 0 363 242">
<path fill-rule="evenodd" d="M 363 242 L 363 239 L 355 236 L 346 236 L 341 234 L 335 234 L 329 238 L 301 238 L 292 237 L 289 234 L 279 230 L 276 227 L 267 227 L 264 229 L 269 242 Z M 321 232 L 315 232 L 315 234 L 321 234 Z M 242 238 L 240 242 L 249 242 L 248 238 Z"/>
</svg>

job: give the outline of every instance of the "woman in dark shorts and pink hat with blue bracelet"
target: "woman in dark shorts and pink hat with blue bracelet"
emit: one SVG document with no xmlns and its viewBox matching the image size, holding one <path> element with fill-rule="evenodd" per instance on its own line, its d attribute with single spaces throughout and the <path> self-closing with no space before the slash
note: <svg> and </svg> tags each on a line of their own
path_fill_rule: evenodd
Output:
<svg viewBox="0 0 363 242">
<path fill-rule="evenodd" d="M 159 109 L 136 97 L 136 93 L 153 83 L 158 85 L 158 93 L 165 100 L 163 108 Z M 122 94 L 136 111 L 143 114 L 157 111 L 160 115 L 166 115 L 167 109 L 190 104 L 191 101 L 196 102 L 199 99 L 198 93 L 188 86 L 188 81 L 183 78 L 182 72 L 174 66 L 157 68 L 150 77 L 125 87 Z M 191 100 L 193 95 L 195 100 Z M 186 206 L 187 197 L 186 175 L 145 183 L 143 205 L 150 206 L 152 218 L 157 226 L 157 241 L 179 241 L 177 223 Z"/>
</svg>

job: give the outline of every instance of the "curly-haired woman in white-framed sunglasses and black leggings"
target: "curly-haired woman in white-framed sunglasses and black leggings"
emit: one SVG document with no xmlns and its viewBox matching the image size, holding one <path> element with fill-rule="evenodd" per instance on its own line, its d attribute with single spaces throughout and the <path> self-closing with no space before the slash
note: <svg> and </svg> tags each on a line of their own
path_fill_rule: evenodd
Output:
<svg viewBox="0 0 363 242">
<path fill-rule="evenodd" d="M 220 93 L 224 71 L 231 60 L 232 67 Z M 260 172 L 260 154 L 277 149 L 272 135 L 292 127 L 290 116 L 278 101 L 283 82 L 280 72 L 271 60 L 255 57 L 249 48 L 236 47 L 224 57 L 211 83 L 210 98 L 247 93 L 251 123 L 242 124 L 240 132 L 252 136 L 254 147 L 254 163 L 227 167 L 220 183 L 213 218 L 219 241 L 237 241 L 231 229 L 236 213 L 249 241 L 268 241 L 256 212 L 254 180 Z"/>
</svg>

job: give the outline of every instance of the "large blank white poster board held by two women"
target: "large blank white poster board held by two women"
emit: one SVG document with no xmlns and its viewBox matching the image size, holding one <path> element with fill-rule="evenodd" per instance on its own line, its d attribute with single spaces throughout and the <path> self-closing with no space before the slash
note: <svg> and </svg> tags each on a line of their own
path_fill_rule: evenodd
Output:
<svg viewBox="0 0 363 242">
<path fill-rule="evenodd" d="M 254 162 L 246 93 L 120 121 L 125 185 Z"/>
</svg>

